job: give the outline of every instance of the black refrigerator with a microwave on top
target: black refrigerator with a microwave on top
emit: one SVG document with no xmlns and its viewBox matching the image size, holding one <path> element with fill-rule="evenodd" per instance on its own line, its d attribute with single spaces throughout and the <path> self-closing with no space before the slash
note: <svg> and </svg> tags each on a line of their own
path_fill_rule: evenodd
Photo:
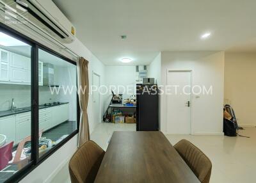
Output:
<svg viewBox="0 0 256 183">
<path fill-rule="evenodd" d="M 158 88 L 156 84 L 136 85 L 136 130 L 158 131 Z"/>
</svg>

